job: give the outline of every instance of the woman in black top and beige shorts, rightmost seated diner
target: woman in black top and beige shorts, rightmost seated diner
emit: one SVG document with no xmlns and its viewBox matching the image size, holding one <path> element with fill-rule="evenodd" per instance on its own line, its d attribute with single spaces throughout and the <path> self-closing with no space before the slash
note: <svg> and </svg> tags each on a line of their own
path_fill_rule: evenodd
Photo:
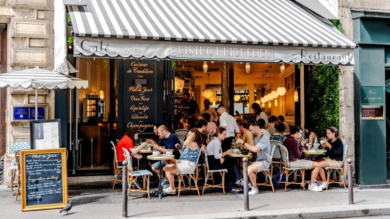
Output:
<svg viewBox="0 0 390 219">
<path fill-rule="evenodd" d="M 343 155 L 343 146 L 340 137 L 340 132 L 335 127 L 326 128 L 326 137 L 330 140 L 330 142 L 324 141 L 322 142 L 322 146 L 326 149 L 325 157 L 322 157 L 319 160 L 320 169 L 319 176 L 321 177 L 321 183 L 318 187 L 324 189 L 326 188 L 326 177 L 325 177 L 325 167 L 333 167 L 337 168 L 342 165 L 342 155 Z"/>
</svg>

